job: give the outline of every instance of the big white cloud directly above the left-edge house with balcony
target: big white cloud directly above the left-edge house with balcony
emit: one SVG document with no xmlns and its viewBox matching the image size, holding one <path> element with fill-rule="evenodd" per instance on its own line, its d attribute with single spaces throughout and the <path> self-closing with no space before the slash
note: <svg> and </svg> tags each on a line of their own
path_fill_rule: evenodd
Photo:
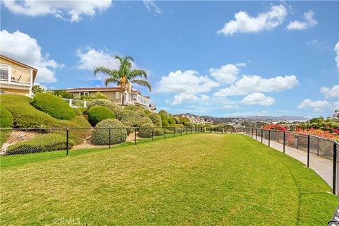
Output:
<svg viewBox="0 0 339 226">
<path fill-rule="evenodd" d="M 58 64 L 54 59 L 49 59 L 48 54 L 42 56 L 42 48 L 37 44 L 35 38 L 19 30 L 13 33 L 1 30 L 0 37 L 1 54 L 36 68 L 37 78 L 35 81 L 40 83 L 57 81 L 55 69 L 64 65 Z"/>
</svg>

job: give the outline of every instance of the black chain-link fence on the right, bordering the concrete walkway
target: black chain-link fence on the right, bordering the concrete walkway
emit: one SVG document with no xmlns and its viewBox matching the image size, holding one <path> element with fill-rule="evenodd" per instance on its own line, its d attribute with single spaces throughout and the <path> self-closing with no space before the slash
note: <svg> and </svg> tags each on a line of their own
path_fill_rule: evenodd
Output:
<svg viewBox="0 0 339 226">
<path fill-rule="evenodd" d="M 331 186 L 333 194 L 339 194 L 338 141 L 270 129 L 242 128 L 237 132 L 303 162 Z"/>
</svg>

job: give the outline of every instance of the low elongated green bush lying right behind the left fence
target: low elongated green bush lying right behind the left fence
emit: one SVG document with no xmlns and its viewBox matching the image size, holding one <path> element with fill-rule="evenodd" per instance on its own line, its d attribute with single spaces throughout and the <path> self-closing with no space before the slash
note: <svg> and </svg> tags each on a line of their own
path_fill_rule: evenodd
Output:
<svg viewBox="0 0 339 226">
<path fill-rule="evenodd" d="M 69 139 L 69 148 L 73 147 L 75 142 Z M 10 145 L 6 153 L 14 154 L 28 154 L 28 153 L 42 153 L 45 151 L 66 150 L 65 136 L 55 133 L 47 133 L 35 136 L 30 141 L 20 141 Z"/>
</svg>

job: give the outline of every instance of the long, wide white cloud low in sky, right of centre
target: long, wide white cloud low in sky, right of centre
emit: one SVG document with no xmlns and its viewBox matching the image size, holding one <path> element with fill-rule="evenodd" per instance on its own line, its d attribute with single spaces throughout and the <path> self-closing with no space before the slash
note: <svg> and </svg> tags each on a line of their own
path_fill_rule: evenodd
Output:
<svg viewBox="0 0 339 226">
<path fill-rule="evenodd" d="M 253 92 L 280 92 L 288 90 L 299 82 L 296 76 L 277 76 L 273 78 L 261 78 L 261 76 L 244 76 L 228 88 L 223 88 L 214 93 L 217 97 L 247 95 Z"/>
</svg>

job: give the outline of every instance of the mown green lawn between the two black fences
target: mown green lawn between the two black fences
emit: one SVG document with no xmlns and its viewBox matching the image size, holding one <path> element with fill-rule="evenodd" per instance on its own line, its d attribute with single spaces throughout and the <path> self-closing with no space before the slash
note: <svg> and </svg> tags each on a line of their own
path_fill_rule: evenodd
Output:
<svg viewBox="0 0 339 226">
<path fill-rule="evenodd" d="M 0 191 L 1 225 L 326 225 L 338 205 L 311 169 L 239 134 L 12 165 Z"/>
</svg>

